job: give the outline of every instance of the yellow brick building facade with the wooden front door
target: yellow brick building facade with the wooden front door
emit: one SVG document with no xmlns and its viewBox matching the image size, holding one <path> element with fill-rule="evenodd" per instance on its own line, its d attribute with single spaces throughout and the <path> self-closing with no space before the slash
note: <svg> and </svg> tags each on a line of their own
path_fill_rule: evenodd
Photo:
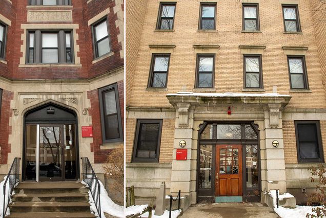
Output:
<svg viewBox="0 0 326 218">
<path fill-rule="evenodd" d="M 129 1 L 127 187 L 155 196 L 165 181 L 191 204 L 266 202 L 272 189 L 307 200 L 326 148 L 322 8 Z"/>
</svg>

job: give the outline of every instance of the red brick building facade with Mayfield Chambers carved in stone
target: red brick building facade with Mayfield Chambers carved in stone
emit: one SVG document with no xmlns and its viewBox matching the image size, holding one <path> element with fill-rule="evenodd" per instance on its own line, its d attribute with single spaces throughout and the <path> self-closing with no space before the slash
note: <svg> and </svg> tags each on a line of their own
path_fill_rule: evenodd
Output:
<svg viewBox="0 0 326 218">
<path fill-rule="evenodd" d="M 124 2 L 0 5 L 0 174 L 20 157 L 23 181 L 78 180 L 88 157 L 105 184 L 124 144 Z"/>
</svg>

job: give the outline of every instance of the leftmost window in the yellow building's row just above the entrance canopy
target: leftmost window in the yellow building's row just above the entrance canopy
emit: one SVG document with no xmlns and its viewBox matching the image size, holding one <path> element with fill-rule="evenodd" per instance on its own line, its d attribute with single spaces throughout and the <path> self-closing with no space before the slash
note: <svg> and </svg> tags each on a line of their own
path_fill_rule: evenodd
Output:
<svg viewBox="0 0 326 218">
<path fill-rule="evenodd" d="M 170 54 L 153 54 L 148 87 L 167 87 L 169 62 Z"/>
</svg>

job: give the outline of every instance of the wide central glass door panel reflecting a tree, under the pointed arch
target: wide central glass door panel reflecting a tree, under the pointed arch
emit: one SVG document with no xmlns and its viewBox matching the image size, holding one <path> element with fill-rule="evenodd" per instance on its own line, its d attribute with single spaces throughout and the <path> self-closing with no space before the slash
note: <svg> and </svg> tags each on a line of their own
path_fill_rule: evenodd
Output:
<svg viewBox="0 0 326 218">
<path fill-rule="evenodd" d="M 62 178 L 62 129 L 39 128 L 39 180 Z"/>
</svg>

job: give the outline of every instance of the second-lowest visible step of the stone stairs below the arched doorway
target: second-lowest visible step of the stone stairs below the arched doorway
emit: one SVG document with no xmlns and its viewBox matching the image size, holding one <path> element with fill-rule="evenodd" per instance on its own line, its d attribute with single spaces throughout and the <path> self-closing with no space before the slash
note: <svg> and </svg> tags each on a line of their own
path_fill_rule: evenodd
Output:
<svg viewBox="0 0 326 218">
<path fill-rule="evenodd" d="M 13 202 L 10 212 L 89 212 L 88 202 Z"/>
</svg>

